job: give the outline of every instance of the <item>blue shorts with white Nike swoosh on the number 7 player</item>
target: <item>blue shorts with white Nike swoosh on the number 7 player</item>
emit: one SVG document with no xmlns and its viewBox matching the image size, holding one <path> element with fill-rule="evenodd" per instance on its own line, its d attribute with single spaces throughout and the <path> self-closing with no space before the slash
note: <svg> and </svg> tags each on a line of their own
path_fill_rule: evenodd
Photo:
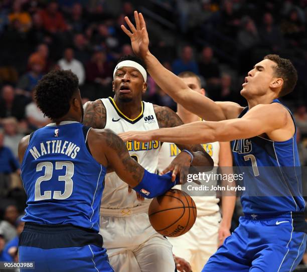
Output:
<svg viewBox="0 0 307 272">
<path fill-rule="evenodd" d="M 289 272 L 306 248 L 303 214 L 276 217 L 246 215 L 224 244 L 212 255 L 203 272 Z"/>
</svg>

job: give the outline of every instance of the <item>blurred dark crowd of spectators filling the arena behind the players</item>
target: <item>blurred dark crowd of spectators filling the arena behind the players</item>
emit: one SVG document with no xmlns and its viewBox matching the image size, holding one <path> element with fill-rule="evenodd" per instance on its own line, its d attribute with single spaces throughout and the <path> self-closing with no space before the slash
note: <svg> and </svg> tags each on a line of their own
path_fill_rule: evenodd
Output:
<svg viewBox="0 0 307 272">
<path fill-rule="evenodd" d="M 50 122 L 34 100 L 37 82 L 52 69 L 70 69 L 83 102 L 112 96 L 114 66 L 132 54 L 120 25 L 125 16 L 133 21 L 135 9 L 150 10 L 152 53 L 175 74 L 198 74 L 213 100 L 245 105 L 241 84 L 252 66 L 267 54 L 291 59 L 299 80 L 283 101 L 294 112 L 301 165 L 307 166 L 307 0 L 2 0 L 0 261 L 16 257 L 23 226 L 18 142 Z M 147 83 L 144 100 L 176 110 L 150 77 Z"/>
</svg>

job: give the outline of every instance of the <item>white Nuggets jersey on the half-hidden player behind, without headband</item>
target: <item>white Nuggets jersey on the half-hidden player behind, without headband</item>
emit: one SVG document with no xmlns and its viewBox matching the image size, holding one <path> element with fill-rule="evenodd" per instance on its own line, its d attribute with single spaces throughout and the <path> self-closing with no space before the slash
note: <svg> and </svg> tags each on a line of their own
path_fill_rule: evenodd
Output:
<svg viewBox="0 0 307 272">
<path fill-rule="evenodd" d="M 212 157 L 214 166 L 219 165 L 219 153 L 220 153 L 220 143 L 207 143 L 202 144 L 205 151 Z M 159 172 L 162 172 L 167 168 L 173 159 L 180 153 L 179 148 L 174 143 L 163 143 L 161 151 L 159 153 Z M 181 185 L 177 185 L 178 189 L 181 188 Z M 175 187 L 176 188 L 176 187 Z M 219 211 L 218 202 L 219 199 L 216 196 L 192 196 L 195 204 L 197 206 L 197 215 L 205 216 L 213 214 Z"/>
</svg>

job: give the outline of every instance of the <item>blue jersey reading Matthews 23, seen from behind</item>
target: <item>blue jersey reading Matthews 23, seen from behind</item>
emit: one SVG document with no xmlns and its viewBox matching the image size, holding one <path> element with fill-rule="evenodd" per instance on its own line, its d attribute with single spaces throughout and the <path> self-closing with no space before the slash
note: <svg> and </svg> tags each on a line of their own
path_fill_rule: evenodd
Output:
<svg viewBox="0 0 307 272">
<path fill-rule="evenodd" d="M 24 221 L 99 231 L 106 169 L 87 148 L 88 131 L 79 122 L 65 121 L 31 135 L 21 166 L 28 196 Z"/>
</svg>

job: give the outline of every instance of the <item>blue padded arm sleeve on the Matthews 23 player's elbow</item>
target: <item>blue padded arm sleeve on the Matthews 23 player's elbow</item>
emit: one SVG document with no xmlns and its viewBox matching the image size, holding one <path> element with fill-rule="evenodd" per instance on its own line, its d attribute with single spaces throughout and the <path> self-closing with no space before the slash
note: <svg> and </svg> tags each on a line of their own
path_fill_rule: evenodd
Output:
<svg viewBox="0 0 307 272">
<path fill-rule="evenodd" d="M 170 190 L 177 182 L 177 178 L 175 182 L 172 182 L 172 172 L 159 176 L 145 170 L 142 180 L 133 190 L 137 191 L 145 198 L 154 198 Z"/>
</svg>

